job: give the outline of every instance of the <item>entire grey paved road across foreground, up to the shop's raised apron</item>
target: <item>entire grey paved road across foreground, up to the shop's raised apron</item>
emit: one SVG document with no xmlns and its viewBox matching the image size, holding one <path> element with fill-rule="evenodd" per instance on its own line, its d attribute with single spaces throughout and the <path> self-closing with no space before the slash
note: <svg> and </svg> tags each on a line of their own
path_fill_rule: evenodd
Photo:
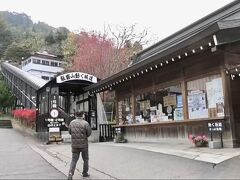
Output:
<svg viewBox="0 0 240 180">
<path fill-rule="evenodd" d="M 44 145 L 22 134 L 25 133 L 0 129 L 0 179 L 66 178 L 40 155 L 67 174 L 70 144 Z M 89 148 L 91 179 L 240 179 L 239 156 L 215 165 L 108 143 L 90 143 Z M 74 178 L 82 179 L 81 158 L 77 168 Z"/>
</svg>

